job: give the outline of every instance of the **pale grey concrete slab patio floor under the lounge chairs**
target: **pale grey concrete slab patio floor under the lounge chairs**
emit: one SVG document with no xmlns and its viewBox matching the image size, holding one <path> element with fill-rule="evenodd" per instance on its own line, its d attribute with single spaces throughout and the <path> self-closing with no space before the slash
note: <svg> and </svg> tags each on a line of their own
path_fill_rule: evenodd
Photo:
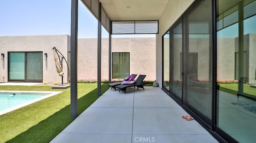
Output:
<svg viewBox="0 0 256 143">
<path fill-rule="evenodd" d="M 50 143 L 218 143 L 159 87 L 106 91 Z"/>
</svg>

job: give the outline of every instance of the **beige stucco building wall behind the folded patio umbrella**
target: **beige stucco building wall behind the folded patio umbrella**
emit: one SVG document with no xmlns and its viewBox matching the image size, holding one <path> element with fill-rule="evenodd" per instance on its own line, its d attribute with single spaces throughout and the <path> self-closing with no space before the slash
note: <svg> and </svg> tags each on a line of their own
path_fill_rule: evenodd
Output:
<svg viewBox="0 0 256 143">
<path fill-rule="evenodd" d="M 61 76 L 55 68 L 52 48 L 56 47 L 67 58 L 69 35 L 36 35 L 36 36 L 3 36 L 0 37 L 0 53 L 4 53 L 1 62 L 0 82 L 8 82 L 8 52 L 42 51 L 43 54 L 43 82 L 59 82 Z M 48 54 L 44 60 L 44 53 Z M 63 61 L 65 62 L 65 61 Z M 67 66 L 63 65 L 64 83 L 67 82 Z M 4 78 L 3 78 L 4 77 Z"/>
</svg>

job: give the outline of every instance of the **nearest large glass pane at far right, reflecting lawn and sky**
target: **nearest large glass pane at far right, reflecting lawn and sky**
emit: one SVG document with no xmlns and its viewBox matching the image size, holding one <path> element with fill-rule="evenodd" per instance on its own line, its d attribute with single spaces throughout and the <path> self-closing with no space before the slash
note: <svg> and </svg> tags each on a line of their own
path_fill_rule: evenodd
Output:
<svg viewBox="0 0 256 143">
<path fill-rule="evenodd" d="M 256 140 L 256 1 L 217 6 L 226 10 L 217 14 L 226 25 L 217 32 L 217 127 L 238 142 L 252 143 Z"/>
</svg>

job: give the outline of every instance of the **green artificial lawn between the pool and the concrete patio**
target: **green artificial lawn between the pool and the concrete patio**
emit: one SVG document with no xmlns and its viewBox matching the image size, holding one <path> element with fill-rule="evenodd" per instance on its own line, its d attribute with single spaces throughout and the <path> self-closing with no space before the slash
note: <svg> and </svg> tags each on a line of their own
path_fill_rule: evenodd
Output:
<svg viewBox="0 0 256 143">
<path fill-rule="evenodd" d="M 0 116 L 0 143 L 48 143 L 75 118 L 70 117 L 70 88 L 52 86 L 1 86 L 1 90 L 62 91 Z M 109 89 L 101 86 L 102 94 Z M 97 84 L 78 83 L 78 115 L 100 96 Z"/>
</svg>

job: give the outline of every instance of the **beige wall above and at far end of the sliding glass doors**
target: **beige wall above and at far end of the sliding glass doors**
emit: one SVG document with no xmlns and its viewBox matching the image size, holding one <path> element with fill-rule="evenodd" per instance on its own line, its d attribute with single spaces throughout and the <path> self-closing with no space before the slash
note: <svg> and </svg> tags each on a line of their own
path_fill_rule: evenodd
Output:
<svg viewBox="0 0 256 143">
<path fill-rule="evenodd" d="M 156 78 L 160 87 L 162 87 L 162 35 L 193 2 L 194 0 L 169 0 L 159 20 L 159 34 L 156 35 Z"/>
</svg>

